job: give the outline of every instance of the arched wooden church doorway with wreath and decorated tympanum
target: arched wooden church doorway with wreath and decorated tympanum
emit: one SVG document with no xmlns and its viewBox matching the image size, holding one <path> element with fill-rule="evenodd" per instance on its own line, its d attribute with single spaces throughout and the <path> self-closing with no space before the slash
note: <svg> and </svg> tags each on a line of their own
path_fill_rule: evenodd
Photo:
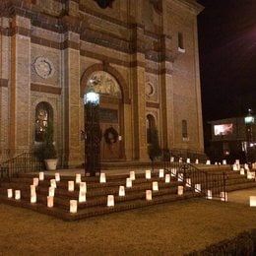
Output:
<svg viewBox="0 0 256 256">
<path fill-rule="evenodd" d="M 123 100 L 116 79 L 105 71 L 93 72 L 87 81 L 96 81 L 95 91 L 100 95 L 99 125 L 101 130 L 100 160 L 123 158 Z"/>
</svg>

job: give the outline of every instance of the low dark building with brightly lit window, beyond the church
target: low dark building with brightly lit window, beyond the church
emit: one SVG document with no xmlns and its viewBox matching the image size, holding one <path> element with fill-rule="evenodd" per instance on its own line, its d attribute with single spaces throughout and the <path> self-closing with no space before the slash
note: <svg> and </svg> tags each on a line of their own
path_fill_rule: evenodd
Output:
<svg viewBox="0 0 256 256">
<path fill-rule="evenodd" d="M 249 111 L 245 117 L 233 117 L 209 122 L 212 140 L 207 154 L 211 160 L 256 160 L 256 127 Z"/>
</svg>

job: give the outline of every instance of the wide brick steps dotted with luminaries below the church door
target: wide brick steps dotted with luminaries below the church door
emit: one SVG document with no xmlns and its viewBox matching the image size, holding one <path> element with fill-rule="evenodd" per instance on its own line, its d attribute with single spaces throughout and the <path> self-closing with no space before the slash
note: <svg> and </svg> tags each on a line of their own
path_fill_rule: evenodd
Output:
<svg viewBox="0 0 256 256">
<path fill-rule="evenodd" d="M 183 195 L 177 195 L 178 185 L 183 183 L 171 177 L 169 183 L 159 177 L 159 173 L 152 174 L 151 179 L 146 179 L 144 173 L 137 174 L 130 188 L 126 186 L 126 178 L 129 174 L 106 176 L 106 183 L 99 183 L 99 177 L 83 177 L 82 181 L 87 183 L 86 202 L 78 203 L 77 213 L 70 213 L 70 200 L 79 199 L 79 184 L 75 184 L 74 191 L 68 191 L 68 181 L 74 180 L 74 176 L 61 176 L 57 182 L 54 195 L 54 207 L 47 207 L 48 188 L 53 175 L 45 175 L 36 187 L 36 203 L 31 203 L 31 185 L 33 177 L 38 174 L 20 174 L 19 177 L 11 178 L 10 182 L 0 184 L 0 202 L 13 206 L 29 208 L 33 211 L 55 216 L 67 221 L 80 220 L 84 218 L 104 215 L 114 212 L 127 211 L 131 209 L 147 207 L 155 204 L 167 203 L 176 200 L 200 196 L 191 188 L 184 187 Z M 153 181 L 158 181 L 159 190 L 152 191 L 152 200 L 146 200 L 146 190 L 153 189 Z M 118 196 L 119 186 L 125 187 L 125 196 Z M 21 199 L 7 197 L 7 189 L 21 190 Z M 114 206 L 107 207 L 107 195 L 114 195 Z"/>
</svg>

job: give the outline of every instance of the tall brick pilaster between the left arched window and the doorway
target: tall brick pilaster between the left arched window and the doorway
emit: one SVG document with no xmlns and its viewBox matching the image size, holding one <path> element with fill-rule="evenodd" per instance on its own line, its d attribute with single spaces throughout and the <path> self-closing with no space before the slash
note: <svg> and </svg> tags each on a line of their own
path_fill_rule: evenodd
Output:
<svg viewBox="0 0 256 256">
<path fill-rule="evenodd" d="M 80 127 L 84 121 L 80 116 L 83 105 L 80 97 L 80 35 L 66 32 L 64 35 L 62 73 L 63 81 L 63 145 L 69 166 L 81 163 Z"/>
</svg>

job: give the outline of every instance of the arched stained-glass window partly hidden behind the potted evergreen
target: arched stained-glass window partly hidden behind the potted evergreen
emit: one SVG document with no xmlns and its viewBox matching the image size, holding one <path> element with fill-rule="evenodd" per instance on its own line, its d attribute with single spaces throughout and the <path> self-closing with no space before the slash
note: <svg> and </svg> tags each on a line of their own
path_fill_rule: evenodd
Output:
<svg viewBox="0 0 256 256">
<path fill-rule="evenodd" d="M 35 107 L 35 142 L 42 142 L 49 121 L 53 121 L 53 110 L 49 103 L 39 102 Z"/>
</svg>

